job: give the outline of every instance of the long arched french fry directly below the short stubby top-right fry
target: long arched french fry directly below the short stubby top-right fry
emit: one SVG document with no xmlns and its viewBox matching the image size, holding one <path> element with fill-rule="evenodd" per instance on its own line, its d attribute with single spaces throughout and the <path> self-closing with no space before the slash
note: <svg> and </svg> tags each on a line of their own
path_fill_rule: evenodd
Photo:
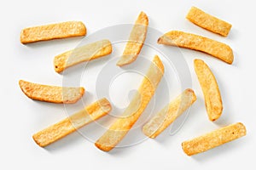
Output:
<svg viewBox="0 0 256 170">
<path fill-rule="evenodd" d="M 228 64 L 232 64 L 234 60 L 232 49 L 223 42 L 217 42 L 207 37 L 201 37 L 183 31 L 169 31 L 158 39 L 158 43 L 195 49 L 211 54 L 213 57 L 221 59 Z"/>
</svg>

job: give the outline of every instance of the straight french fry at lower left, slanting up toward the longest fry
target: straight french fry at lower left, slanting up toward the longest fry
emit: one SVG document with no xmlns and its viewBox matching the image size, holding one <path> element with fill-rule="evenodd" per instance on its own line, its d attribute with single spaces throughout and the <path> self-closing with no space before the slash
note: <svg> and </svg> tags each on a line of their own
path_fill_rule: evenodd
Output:
<svg viewBox="0 0 256 170">
<path fill-rule="evenodd" d="M 67 134 L 73 133 L 80 127 L 84 127 L 84 125 L 107 115 L 109 111 L 111 111 L 111 105 L 108 102 L 108 99 L 99 99 L 95 103 L 84 108 L 84 110 L 35 133 L 32 138 L 39 146 L 47 146 L 48 144 L 52 144 L 53 142 L 62 139 L 67 136 Z"/>
</svg>

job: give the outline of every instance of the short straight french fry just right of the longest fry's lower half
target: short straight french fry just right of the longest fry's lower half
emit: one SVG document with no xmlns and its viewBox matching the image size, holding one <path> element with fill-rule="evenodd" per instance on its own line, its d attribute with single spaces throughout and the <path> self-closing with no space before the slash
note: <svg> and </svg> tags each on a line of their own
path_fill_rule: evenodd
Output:
<svg viewBox="0 0 256 170">
<path fill-rule="evenodd" d="M 174 122 L 183 111 L 186 111 L 195 100 L 196 96 L 194 91 L 192 89 L 186 89 L 183 91 L 183 94 L 177 96 L 176 99 L 166 105 L 166 107 L 143 126 L 143 133 L 149 138 L 154 139 Z"/>
</svg>

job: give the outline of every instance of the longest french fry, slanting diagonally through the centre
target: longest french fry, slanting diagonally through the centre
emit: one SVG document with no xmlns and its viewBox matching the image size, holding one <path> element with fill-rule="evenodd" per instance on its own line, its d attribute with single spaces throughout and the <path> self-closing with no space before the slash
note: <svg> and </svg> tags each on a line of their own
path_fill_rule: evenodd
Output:
<svg viewBox="0 0 256 170">
<path fill-rule="evenodd" d="M 163 74 L 164 65 L 156 55 L 148 69 L 147 76 L 143 78 L 138 93 L 131 100 L 130 105 L 126 108 L 123 115 L 113 122 L 108 131 L 96 141 L 96 147 L 100 150 L 109 151 L 112 150 L 116 144 L 119 144 L 147 107 Z"/>
</svg>

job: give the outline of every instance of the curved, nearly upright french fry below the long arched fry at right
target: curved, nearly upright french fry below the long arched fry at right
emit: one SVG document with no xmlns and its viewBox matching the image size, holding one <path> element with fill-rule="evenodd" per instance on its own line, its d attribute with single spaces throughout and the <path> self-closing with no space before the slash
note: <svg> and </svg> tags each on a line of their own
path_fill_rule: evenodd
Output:
<svg viewBox="0 0 256 170">
<path fill-rule="evenodd" d="M 195 59 L 194 67 L 205 97 L 208 117 L 211 121 L 215 121 L 221 116 L 223 111 L 218 83 L 212 74 L 212 71 L 203 60 Z"/>
</svg>

